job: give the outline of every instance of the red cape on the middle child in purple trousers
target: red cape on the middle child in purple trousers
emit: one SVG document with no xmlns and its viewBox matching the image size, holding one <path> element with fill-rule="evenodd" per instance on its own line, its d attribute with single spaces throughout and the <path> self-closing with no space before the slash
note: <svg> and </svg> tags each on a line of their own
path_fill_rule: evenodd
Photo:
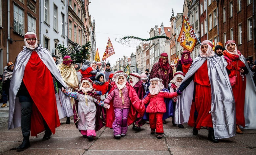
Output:
<svg viewBox="0 0 256 155">
<path fill-rule="evenodd" d="M 144 115 L 146 108 L 145 108 L 145 105 L 142 103 L 142 101 L 139 100 L 139 97 L 136 91 L 134 90 L 134 88 L 128 82 L 126 82 L 126 87 L 128 89 L 129 97 L 131 101 L 127 124 L 131 125 L 136 119 L 136 111 L 138 112 L 138 116 L 140 115 L 140 117 L 142 117 Z M 117 85 L 114 84 L 113 87 L 110 89 L 109 93 L 116 88 L 117 88 Z M 110 101 L 109 104 L 110 104 L 110 108 L 106 109 L 106 127 L 112 128 L 113 122 L 115 120 L 113 100 Z"/>
</svg>

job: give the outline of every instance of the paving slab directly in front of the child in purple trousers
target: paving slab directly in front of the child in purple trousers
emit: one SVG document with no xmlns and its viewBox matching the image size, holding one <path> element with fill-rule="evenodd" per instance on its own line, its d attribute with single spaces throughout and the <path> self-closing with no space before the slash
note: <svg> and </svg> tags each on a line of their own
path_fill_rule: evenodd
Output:
<svg viewBox="0 0 256 155">
<path fill-rule="evenodd" d="M 152 145 L 154 144 L 154 145 Z M 90 150 L 163 150 L 168 147 L 165 139 L 157 138 L 98 138 Z"/>
</svg>

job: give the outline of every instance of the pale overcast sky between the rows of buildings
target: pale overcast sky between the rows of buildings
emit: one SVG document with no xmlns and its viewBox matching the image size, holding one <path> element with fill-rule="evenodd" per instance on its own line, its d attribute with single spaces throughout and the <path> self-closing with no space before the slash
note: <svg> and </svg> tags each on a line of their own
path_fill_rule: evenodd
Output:
<svg viewBox="0 0 256 155">
<path fill-rule="evenodd" d="M 125 36 L 150 38 L 149 31 L 155 25 L 170 27 L 172 9 L 174 16 L 182 13 L 184 0 L 91 0 L 89 14 L 95 20 L 96 49 L 100 60 L 110 38 L 115 54 L 106 62 L 113 65 L 123 55 L 131 56 L 136 47 L 128 47 L 115 41 Z M 137 41 L 139 43 L 139 41 Z"/>
</svg>

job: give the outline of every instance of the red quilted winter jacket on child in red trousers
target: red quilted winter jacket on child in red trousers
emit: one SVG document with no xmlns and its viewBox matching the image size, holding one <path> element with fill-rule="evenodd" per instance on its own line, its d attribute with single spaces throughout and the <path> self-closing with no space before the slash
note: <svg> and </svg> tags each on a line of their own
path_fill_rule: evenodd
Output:
<svg viewBox="0 0 256 155">
<path fill-rule="evenodd" d="M 142 102 L 144 104 L 148 104 L 146 112 L 147 113 L 165 113 L 166 112 L 166 106 L 164 102 L 164 98 L 173 98 L 178 96 L 177 92 L 174 93 L 168 93 L 160 91 L 157 95 L 151 96 L 149 93 Z"/>
</svg>

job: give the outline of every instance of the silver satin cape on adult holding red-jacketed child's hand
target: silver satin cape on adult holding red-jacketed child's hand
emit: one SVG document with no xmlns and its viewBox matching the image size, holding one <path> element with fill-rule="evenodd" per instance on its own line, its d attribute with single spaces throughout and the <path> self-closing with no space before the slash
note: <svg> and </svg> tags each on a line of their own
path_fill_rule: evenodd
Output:
<svg viewBox="0 0 256 155">
<path fill-rule="evenodd" d="M 216 54 L 206 58 L 196 57 L 182 82 L 193 76 L 205 60 L 207 60 L 211 84 L 211 116 L 215 139 L 232 137 L 236 134 L 235 100 L 228 74 L 221 58 Z M 178 96 L 175 108 L 175 123 L 188 122 L 193 91 L 194 82 L 192 81 Z"/>
</svg>

